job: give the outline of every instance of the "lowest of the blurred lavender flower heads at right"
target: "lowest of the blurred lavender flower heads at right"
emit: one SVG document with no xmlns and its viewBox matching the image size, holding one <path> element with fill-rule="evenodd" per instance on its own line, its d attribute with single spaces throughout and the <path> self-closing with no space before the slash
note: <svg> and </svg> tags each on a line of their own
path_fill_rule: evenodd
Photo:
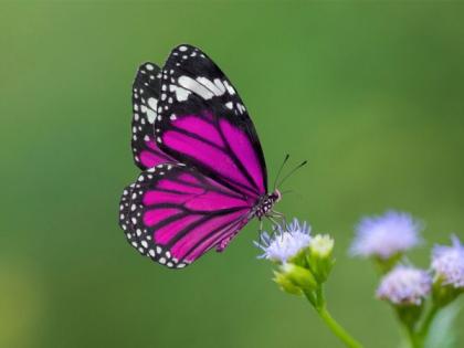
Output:
<svg viewBox="0 0 464 348">
<path fill-rule="evenodd" d="M 380 281 L 377 297 L 394 305 L 421 305 L 432 288 L 432 278 L 425 271 L 398 265 Z"/>
</svg>

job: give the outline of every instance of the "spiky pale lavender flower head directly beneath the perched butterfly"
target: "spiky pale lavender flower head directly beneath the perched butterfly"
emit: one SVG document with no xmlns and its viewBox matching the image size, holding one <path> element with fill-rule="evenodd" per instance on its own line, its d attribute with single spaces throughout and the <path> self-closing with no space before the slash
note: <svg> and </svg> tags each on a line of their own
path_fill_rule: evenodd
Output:
<svg viewBox="0 0 464 348">
<path fill-rule="evenodd" d="M 284 226 L 276 225 L 271 236 L 263 232 L 260 235 L 260 242 L 254 242 L 254 244 L 264 252 L 259 256 L 260 259 L 286 263 L 309 245 L 312 240 L 309 233 L 310 228 L 306 222 L 300 224 L 297 219 L 294 219 L 292 223 Z"/>
</svg>

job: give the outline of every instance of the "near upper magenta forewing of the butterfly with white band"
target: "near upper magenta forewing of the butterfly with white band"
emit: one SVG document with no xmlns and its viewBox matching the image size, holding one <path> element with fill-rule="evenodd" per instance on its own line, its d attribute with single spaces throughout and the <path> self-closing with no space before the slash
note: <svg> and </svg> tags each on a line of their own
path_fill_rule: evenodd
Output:
<svg viewBox="0 0 464 348">
<path fill-rule="evenodd" d="M 267 192 L 261 144 L 243 102 L 222 71 L 199 49 L 176 48 L 162 70 L 156 141 L 254 201 Z"/>
</svg>

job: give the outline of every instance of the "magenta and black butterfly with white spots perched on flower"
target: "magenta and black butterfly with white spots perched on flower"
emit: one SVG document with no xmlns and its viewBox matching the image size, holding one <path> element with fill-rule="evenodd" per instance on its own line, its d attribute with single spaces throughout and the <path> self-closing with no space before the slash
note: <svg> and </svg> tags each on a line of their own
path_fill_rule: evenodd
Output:
<svg viewBox="0 0 464 348">
<path fill-rule="evenodd" d="M 182 268 L 223 251 L 253 218 L 275 217 L 263 150 L 232 83 L 200 49 L 181 44 L 133 85 L 134 160 L 119 225 L 140 254 Z"/>
</svg>

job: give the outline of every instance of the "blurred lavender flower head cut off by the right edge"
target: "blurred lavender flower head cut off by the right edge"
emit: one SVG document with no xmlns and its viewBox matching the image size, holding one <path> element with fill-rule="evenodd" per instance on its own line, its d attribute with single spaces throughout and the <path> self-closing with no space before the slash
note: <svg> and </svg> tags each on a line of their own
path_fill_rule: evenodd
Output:
<svg viewBox="0 0 464 348">
<path fill-rule="evenodd" d="M 432 252 L 432 270 L 443 282 L 455 288 L 464 288 L 464 245 L 456 235 L 451 238 L 453 245 L 436 245 Z"/>
</svg>

